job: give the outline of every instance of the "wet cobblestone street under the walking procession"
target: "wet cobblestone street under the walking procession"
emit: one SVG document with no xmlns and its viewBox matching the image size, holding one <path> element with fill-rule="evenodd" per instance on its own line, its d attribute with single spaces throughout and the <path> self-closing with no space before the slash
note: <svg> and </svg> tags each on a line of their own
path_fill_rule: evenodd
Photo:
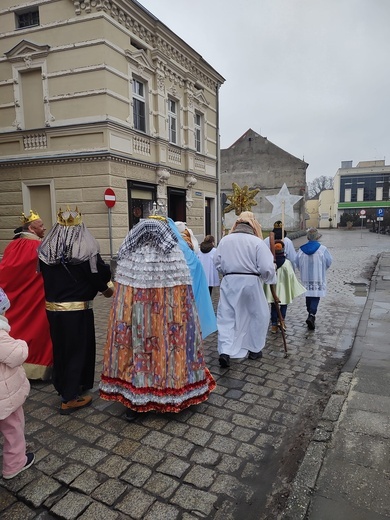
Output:
<svg viewBox="0 0 390 520">
<path fill-rule="evenodd" d="M 61 416 L 52 385 L 32 384 L 24 410 L 36 463 L 0 479 L 2 520 L 276 518 L 348 358 L 377 255 L 390 248 L 389 236 L 366 230 L 321 232 L 333 265 L 316 330 L 307 330 L 301 296 L 287 310 L 287 358 L 280 333 L 268 334 L 261 360 L 232 360 L 221 369 L 217 335 L 208 337 L 217 388 L 177 415 L 149 413 L 127 423 L 123 406 L 99 399 L 110 300 L 98 296 L 93 404 Z"/>
</svg>

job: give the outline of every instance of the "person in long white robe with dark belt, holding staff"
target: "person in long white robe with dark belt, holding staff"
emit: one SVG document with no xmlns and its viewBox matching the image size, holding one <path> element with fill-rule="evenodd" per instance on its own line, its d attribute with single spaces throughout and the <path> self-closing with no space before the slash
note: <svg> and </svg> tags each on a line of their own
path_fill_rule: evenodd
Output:
<svg viewBox="0 0 390 520">
<path fill-rule="evenodd" d="M 263 283 L 275 284 L 275 264 L 250 211 L 241 213 L 214 256 L 223 275 L 217 310 L 218 353 L 222 368 L 230 358 L 259 359 L 265 345 L 269 308 Z"/>
</svg>

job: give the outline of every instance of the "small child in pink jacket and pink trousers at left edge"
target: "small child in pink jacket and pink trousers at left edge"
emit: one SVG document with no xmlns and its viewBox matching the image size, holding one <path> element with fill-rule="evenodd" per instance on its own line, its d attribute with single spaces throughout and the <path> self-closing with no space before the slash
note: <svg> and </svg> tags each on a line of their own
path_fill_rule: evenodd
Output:
<svg viewBox="0 0 390 520">
<path fill-rule="evenodd" d="M 0 432 L 3 435 L 3 478 L 12 479 L 34 464 L 33 453 L 26 453 L 23 403 L 30 383 L 22 367 L 28 355 L 24 340 L 13 339 L 5 311 L 9 299 L 0 288 Z"/>
</svg>

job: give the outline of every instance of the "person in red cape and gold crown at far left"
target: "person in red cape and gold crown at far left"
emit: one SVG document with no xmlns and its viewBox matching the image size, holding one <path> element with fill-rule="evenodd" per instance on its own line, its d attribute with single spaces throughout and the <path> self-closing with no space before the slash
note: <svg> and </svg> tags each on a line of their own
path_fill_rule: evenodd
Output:
<svg viewBox="0 0 390 520">
<path fill-rule="evenodd" d="M 11 302 L 7 319 L 14 337 L 26 341 L 24 363 L 28 379 L 48 380 L 53 365 L 49 322 L 45 311 L 43 279 L 37 270 L 37 250 L 46 228 L 34 211 L 22 214 L 18 238 L 11 240 L 0 262 L 0 286 Z"/>
</svg>

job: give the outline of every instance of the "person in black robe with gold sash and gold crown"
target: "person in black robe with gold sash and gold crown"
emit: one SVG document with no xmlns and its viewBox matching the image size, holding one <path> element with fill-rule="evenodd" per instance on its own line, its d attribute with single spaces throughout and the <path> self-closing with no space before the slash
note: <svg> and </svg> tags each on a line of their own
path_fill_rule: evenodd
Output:
<svg viewBox="0 0 390 520">
<path fill-rule="evenodd" d="M 82 394 L 94 384 L 93 299 L 98 292 L 112 296 L 111 271 L 77 208 L 60 209 L 38 257 L 53 341 L 53 385 L 62 399 L 60 413 L 67 415 L 92 402 Z"/>
</svg>

